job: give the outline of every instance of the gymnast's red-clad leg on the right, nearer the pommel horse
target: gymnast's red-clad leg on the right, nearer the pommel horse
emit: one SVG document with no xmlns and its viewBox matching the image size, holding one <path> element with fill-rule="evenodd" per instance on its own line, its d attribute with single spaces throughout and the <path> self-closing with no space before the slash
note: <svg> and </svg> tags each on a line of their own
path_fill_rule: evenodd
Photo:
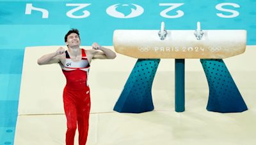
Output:
<svg viewBox="0 0 256 145">
<path fill-rule="evenodd" d="M 86 93 L 87 92 L 87 93 Z M 86 90 L 81 96 L 81 103 L 77 108 L 77 123 L 79 132 L 79 145 L 86 144 L 89 128 L 89 114 L 90 114 L 90 92 Z"/>
</svg>

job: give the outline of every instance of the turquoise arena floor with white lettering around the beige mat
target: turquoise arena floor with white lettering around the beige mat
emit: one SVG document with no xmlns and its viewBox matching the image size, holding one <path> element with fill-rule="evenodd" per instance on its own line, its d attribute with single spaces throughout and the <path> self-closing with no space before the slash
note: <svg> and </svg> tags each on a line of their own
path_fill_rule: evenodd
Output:
<svg viewBox="0 0 256 145">
<path fill-rule="evenodd" d="M 81 45 L 113 45 L 116 29 L 244 29 L 256 45 L 256 0 L 0 0 L 0 144 L 13 144 L 26 46 L 64 45 L 79 29 Z"/>
</svg>

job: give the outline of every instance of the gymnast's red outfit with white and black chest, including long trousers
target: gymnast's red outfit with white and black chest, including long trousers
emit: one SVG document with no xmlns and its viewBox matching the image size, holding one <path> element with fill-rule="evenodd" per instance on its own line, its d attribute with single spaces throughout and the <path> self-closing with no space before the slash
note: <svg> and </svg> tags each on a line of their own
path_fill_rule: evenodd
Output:
<svg viewBox="0 0 256 145">
<path fill-rule="evenodd" d="M 66 144 L 74 145 L 76 128 L 79 132 L 79 145 L 86 144 L 89 114 L 90 114 L 90 88 L 87 83 L 90 64 L 83 49 L 82 59 L 75 62 L 71 60 L 66 51 L 66 61 L 62 67 L 67 84 L 63 91 L 63 102 L 67 117 Z"/>
</svg>

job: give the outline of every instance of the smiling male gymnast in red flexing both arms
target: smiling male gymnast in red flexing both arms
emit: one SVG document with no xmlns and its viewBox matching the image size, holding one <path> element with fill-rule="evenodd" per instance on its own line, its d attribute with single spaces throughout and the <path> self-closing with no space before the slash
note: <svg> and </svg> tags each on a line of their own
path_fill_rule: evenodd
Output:
<svg viewBox="0 0 256 145">
<path fill-rule="evenodd" d="M 90 88 L 88 86 L 88 72 L 92 59 L 115 59 L 116 53 L 97 43 L 92 49 L 80 48 L 79 31 L 71 29 L 65 35 L 67 50 L 60 47 L 56 52 L 46 54 L 37 60 L 39 65 L 60 64 L 67 79 L 63 90 L 63 103 L 67 117 L 66 144 L 73 145 L 76 128 L 79 132 L 79 145 L 86 144 L 90 114 Z"/>
</svg>

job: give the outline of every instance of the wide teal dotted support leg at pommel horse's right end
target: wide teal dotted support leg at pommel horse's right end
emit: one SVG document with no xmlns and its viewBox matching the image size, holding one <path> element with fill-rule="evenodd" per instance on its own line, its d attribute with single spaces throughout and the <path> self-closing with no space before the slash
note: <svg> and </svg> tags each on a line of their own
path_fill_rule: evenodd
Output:
<svg viewBox="0 0 256 145">
<path fill-rule="evenodd" d="M 209 85 L 208 111 L 237 113 L 247 106 L 222 59 L 200 59 Z"/>
</svg>

